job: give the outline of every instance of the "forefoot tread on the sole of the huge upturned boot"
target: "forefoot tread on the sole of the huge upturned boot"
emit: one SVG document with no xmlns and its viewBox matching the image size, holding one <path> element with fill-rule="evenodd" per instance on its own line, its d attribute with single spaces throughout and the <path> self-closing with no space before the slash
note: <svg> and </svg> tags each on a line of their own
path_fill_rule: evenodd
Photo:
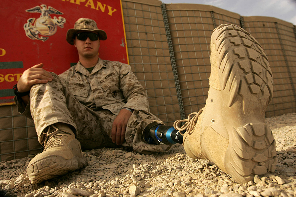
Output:
<svg viewBox="0 0 296 197">
<path fill-rule="evenodd" d="M 235 25 L 226 24 L 216 30 L 218 31 L 214 32 L 213 40 L 219 53 L 218 68 L 223 73 L 222 88 L 225 89 L 228 83 L 228 90 L 232 93 L 229 107 L 233 105 L 238 94 L 242 95 L 247 105 L 249 100 L 244 95 L 249 94 L 245 90 L 248 88 L 251 94 L 262 95 L 260 101 L 264 109 L 271 101 L 273 82 L 268 59 L 261 45 L 244 29 Z M 232 66 L 226 66 L 227 64 Z M 232 84 L 239 86 L 234 87 Z M 247 106 L 244 106 L 244 109 L 247 109 Z"/>
</svg>

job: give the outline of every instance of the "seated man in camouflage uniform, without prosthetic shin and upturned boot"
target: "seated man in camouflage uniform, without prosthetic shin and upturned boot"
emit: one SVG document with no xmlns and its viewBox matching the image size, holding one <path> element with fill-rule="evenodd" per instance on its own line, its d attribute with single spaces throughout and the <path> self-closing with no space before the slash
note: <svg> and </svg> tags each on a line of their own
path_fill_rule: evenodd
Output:
<svg viewBox="0 0 296 197">
<path fill-rule="evenodd" d="M 163 122 L 149 112 L 147 94 L 131 67 L 99 58 L 100 41 L 107 35 L 96 22 L 78 19 L 66 39 L 77 48 L 76 66 L 57 76 L 37 64 L 24 71 L 14 87 L 18 111 L 34 120 L 38 140 L 45 147 L 28 165 L 31 182 L 85 167 L 81 146 L 121 144 L 140 153 L 168 150 L 170 145 L 143 139 L 150 123 L 148 128 Z"/>
</svg>

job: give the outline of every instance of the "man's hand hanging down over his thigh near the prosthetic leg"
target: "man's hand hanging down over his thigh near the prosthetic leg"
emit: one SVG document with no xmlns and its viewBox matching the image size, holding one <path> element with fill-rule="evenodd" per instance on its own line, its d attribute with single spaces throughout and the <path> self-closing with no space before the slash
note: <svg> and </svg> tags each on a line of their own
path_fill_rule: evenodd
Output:
<svg viewBox="0 0 296 197">
<path fill-rule="evenodd" d="M 126 125 L 128 124 L 128 119 L 131 117 L 131 114 L 132 112 L 127 109 L 121 109 L 118 113 L 112 125 L 111 138 L 113 143 L 117 145 L 123 144 Z"/>
</svg>

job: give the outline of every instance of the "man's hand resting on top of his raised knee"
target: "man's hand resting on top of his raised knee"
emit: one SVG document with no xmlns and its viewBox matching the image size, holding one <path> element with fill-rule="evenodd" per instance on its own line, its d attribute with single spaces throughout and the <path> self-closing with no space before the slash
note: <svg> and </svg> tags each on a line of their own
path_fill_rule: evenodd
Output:
<svg viewBox="0 0 296 197">
<path fill-rule="evenodd" d="M 41 63 L 25 70 L 20 77 L 20 80 L 17 82 L 17 90 L 19 92 L 27 92 L 30 91 L 34 84 L 45 84 L 49 81 L 51 82 L 53 76 L 42 67 L 43 64 Z"/>
</svg>

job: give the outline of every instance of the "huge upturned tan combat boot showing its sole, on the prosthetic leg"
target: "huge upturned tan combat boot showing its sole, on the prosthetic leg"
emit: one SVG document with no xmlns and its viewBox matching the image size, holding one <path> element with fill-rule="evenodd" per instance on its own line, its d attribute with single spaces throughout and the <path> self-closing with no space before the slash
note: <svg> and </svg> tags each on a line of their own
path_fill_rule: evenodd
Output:
<svg viewBox="0 0 296 197">
<path fill-rule="evenodd" d="M 211 38 L 209 82 L 205 107 L 174 125 L 186 129 L 186 153 L 214 162 L 238 183 L 274 172 L 275 141 L 264 119 L 273 82 L 261 45 L 236 25 L 220 25 Z"/>
</svg>

